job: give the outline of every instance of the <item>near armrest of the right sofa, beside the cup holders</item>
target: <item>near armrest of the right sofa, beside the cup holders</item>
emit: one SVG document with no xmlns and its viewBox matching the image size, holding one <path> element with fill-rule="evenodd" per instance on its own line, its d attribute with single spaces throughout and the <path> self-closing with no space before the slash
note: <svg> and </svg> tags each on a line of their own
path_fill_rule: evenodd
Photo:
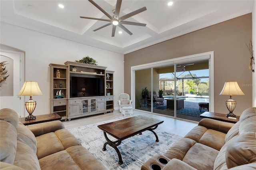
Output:
<svg viewBox="0 0 256 170">
<path fill-rule="evenodd" d="M 164 166 L 163 170 L 196 170 L 196 169 L 179 159 L 173 158 L 172 160 L 170 160 L 170 162 L 168 162 L 168 164 L 166 164 L 166 166 Z"/>
</svg>

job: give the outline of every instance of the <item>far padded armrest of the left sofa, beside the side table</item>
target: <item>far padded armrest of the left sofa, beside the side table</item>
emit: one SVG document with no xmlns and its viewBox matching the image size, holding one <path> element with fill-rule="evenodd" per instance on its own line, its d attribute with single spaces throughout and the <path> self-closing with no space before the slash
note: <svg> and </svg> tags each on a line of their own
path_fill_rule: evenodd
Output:
<svg viewBox="0 0 256 170">
<path fill-rule="evenodd" d="M 64 124 L 61 121 L 51 121 L 39 123 L 36 125 L 28 126 L 28 129 L 31 130 L 35 136 L 40 136 L 49 132 L 55 132 L 56 130 L 65 128 Z"/>
</svg>

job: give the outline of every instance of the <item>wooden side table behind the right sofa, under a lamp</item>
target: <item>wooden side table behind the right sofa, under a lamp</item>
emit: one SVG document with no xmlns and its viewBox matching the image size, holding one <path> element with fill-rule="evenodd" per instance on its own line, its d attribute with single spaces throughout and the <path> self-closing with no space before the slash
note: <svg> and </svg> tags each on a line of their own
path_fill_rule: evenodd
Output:
<svg viewBox="0 0 256 170">
<path fill-rule="evenodd" d="M 236 116 L 236 120 L 228 119 L 226 117 L 226 114 L 213 113 L 213 112 L 204 112 L 200 115 L 200 117 L 208 118 L 208 119 L 214 119 L 214 120 L 223 121 L 223 122 L 229 122 L 229 123 L 237 123 L 239 121 L 239 118 L 240 118 L 240 116 Z"/>
</svg>

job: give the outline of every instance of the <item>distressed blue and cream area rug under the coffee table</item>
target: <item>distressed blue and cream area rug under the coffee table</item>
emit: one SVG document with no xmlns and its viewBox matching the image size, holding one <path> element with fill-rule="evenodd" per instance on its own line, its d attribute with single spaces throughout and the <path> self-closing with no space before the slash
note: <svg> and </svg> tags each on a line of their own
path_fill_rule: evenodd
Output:
<svg viewBox="0 0 256 170">
<path fill-rule="evenodd" d="M 102 150 L 106 139 L 103 135 L 103 131 L 97 126 L 121 119 L 124 118 L 72 128 L 69 129 L 69 131 L 78 138 L 82 146 L 88 149 L 109 170 L 140 170 L 140 167 L 144 162 L 146 162 L 146 160 L 155 154 L 164 153 L 168 148 L 170 148 L 170 146 L 182 138 L 181 136 L 164 132 L 159 129 L 154 130 L 158 135 L 159 142 L 156 142 L 156 137 L 148 130 L 142 132 L 142 135 L 138 134 L 127 138 L 118 146 L 124 162 L 120 165 L 118 164 L 119 159 L 114 148 L 107 145 L 107 150 Z M 108 137 L 113 141 L 115 140 L 112 136 L 108 135 Z"/>
</svg>

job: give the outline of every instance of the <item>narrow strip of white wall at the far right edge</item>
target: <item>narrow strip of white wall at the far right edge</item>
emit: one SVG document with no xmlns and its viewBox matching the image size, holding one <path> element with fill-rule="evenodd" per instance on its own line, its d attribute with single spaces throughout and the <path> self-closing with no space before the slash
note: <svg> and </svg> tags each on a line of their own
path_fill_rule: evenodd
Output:
<svg viewBox="0 0 256 170">
<path fill-rule="evenodd" d="M 252 7 L 252 45 L 254 51 L 254 59 L 256 57 L 256 1 L 253 1 Z M 256 62 L 256 61 L 255 61 Z M 255 72 L 252 73 L 252 107 L 256 107 L 256 65 Z"/>
</svg>

